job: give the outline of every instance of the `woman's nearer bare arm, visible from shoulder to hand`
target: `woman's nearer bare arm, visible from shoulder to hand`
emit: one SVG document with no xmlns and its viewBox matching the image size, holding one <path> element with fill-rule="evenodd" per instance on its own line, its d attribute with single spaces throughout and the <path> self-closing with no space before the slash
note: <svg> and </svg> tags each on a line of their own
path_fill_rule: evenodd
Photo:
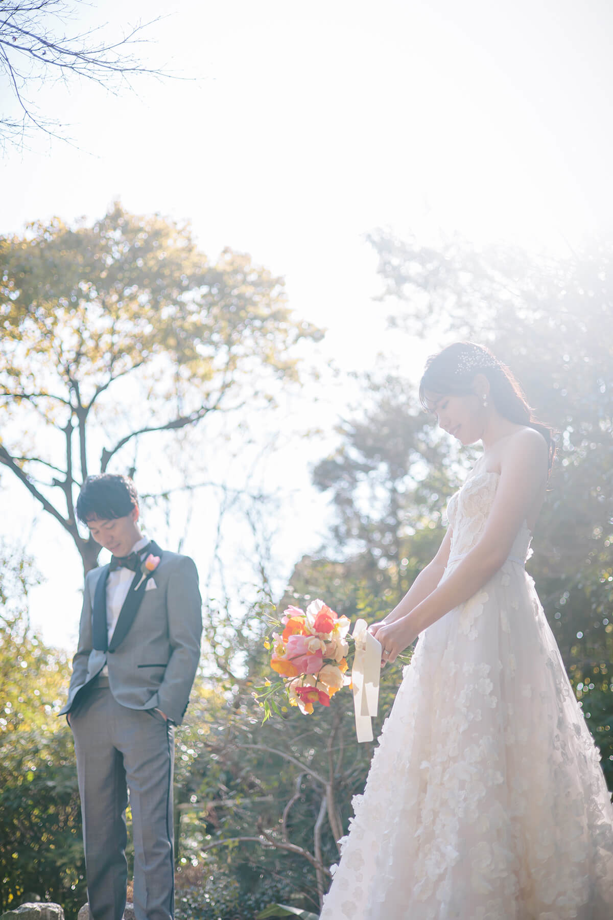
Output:
<svg viewBox="0 0 613 920">
<path fill-rule="evenodd" d="M 468 601 L 500 569 L 547 477 L 547 463 L 547 444 L 538 431 L 526 429 L 513 438 L 501 462 L 494 504 L 477 545 L 408 614 L 381 624 L 377 638 L 390 652 L 388 661 L 395 661 L 422 630 Z"/>
</svg>

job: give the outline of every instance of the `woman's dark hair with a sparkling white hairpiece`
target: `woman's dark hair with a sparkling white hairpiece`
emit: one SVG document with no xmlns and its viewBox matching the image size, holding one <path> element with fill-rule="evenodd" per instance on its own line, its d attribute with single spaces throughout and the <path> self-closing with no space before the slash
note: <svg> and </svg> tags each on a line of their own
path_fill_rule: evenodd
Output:
<svg viewBox="0 0 613 920">
<path fill-rule="evenodd" d="M 419 384 L 419 401 L 426 412 L 431 412 L 426 393 L 441 396 L 469 396 L 474 393 L 472 382 L 477 374 L 484 374 L 490 382 L 490 396 L 496 411 L 505 419 L 518 425 L 534 428 L 545 438 L 549 447 L 549 468 L 553 464 L 556 445 L 553 429 L 534 418 L 521 386 L 506 364 L 475 342 L 454 342 L 426 361 L 426 371 Z"/>
</svg>

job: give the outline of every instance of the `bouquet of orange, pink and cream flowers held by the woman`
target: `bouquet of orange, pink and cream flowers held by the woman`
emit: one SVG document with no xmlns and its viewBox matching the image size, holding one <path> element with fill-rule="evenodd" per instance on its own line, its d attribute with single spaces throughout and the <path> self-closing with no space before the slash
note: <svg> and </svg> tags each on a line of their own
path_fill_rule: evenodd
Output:
<svg viewBox="0 0 613 920">
<path fill-rule="evenodd" d="M 265 710 L 265 722 L 271 707 L 278 715 L 287 712 L 287 707 L 278 708 L 275 696 L 279 691 L 287 694 L 289 706 L 311 714 L 315 705 L 330 706 L 330 698 L 341 687 L 351 684 L 346 673 L 351 623 L 346 616 L 336 615 L 324 601 L 317 600 L 306 610 L 288 607 L 278 626 L 283 626 L 283 631 L 273 632 L 272 641 L 267 638 L 264 646 L 267 650 L 272 646 L 270 667 L 278 673 L 280 681 L 276 684 L 267 681 L 267 693 L 255 694 Z"/>
</svg>

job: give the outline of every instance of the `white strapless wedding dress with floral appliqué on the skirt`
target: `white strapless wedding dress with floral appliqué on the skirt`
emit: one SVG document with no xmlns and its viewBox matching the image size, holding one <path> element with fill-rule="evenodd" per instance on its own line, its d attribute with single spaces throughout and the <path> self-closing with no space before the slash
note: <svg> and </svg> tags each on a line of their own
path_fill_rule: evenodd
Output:
<svg viewBox="0 0 613 920">
<path fill-rule="evenodd" d="M 482 534 L 499 474 L 448 502 L 443 578 Z M 524 562 L 511 555 L 419 637 L 321 920 L 612 920 L 613 807 Z"/>
</svg>

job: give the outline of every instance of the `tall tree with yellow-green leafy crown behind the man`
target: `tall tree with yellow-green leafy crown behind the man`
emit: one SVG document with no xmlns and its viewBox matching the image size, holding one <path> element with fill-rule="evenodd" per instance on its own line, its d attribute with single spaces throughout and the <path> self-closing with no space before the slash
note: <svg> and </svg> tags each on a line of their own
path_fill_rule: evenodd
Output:
<svg viewBox="0 0 613 920">
<path fill-rule="evenodd" d="M 89 472 L 118 454 L 133 469 L 143 437 L 246 399 L 267 407 L 299 379 L 297 344 L 322 336 L 248 256 L 210 262 L 187 225 L 119 203 L 91 227 L 56 219 L 0 237 L 0 328 L 0 408 L 13 421 L 0 464 L 72 536 L 85 570 L 99 547 L 79 535 L 74 498 Z"/>
</svg>

